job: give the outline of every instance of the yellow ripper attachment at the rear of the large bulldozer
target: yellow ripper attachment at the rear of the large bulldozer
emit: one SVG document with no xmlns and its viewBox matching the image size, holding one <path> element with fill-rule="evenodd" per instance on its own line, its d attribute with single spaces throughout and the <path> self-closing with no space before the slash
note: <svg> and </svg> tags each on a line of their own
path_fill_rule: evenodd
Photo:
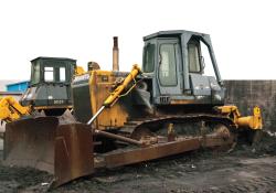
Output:
<svg viewBox="0 0 276 193">
<path fill-rule="evenodd" d="M 248 127 L 251 129 L 262 129 L 263 121 L 259 107 L 254 107 L 253 116 L 242 117 L 236 106 L 222 106 L 217 107 L 221 114 L 227 115 L 233 119 L 236 127 Z"/>
</svg>

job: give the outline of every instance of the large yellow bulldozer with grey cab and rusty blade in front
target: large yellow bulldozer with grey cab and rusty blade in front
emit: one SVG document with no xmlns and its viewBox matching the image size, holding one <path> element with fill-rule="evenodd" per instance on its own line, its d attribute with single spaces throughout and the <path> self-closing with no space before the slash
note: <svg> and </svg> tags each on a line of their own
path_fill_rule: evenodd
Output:
<svg viewBox="0 0 276 193">
<path fill-rule="evenodd" d="M 242 116 L 224 105 L 210 35 L 160 31 L 144 37 L 142 67 L 93 68 L 71 84 L 74 114 L 7 124 L 4 162 L 54 174 L 53 186 L 115 168 L 200 148 L 231 147 L 262 129 L 258 107 Z M 206 46 L 215 76 L 204 74 Z"/>
</svg>

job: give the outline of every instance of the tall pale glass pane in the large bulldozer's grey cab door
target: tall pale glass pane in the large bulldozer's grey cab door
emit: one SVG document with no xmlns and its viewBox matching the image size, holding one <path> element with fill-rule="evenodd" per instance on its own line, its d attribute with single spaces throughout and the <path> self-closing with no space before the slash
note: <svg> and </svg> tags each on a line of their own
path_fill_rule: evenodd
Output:
<svg viewBox="0 0 276 193">
<path fill-rule="evenodd" d="M 163 86 L 177 85 L 177 61 L 174 44 L 160 45 L 159 79 Z"/>
</svg>

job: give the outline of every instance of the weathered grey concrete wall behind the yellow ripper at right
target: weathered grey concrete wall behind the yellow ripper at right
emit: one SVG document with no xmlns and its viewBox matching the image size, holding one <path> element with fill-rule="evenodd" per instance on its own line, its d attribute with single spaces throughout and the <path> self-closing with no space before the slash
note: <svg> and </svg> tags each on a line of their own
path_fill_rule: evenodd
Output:
<svg viewBox="0 0 276 193">
<path fill-rule="evenodd" d="M 276 132 L 276 81 L 224 81 L 226 103 L 235 104 L 243 115 L 261 107 L 264 129 Z"/>
</svg>

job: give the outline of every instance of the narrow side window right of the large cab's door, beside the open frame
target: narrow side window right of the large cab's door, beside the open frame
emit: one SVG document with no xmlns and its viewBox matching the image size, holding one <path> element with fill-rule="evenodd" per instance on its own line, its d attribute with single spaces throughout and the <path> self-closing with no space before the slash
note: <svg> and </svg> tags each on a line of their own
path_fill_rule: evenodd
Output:
<svg viewBox="0 0 276 193">
<path fill-rule="evenodd" d="M 189 71 L 191 73 L 200 72 L 200 55 L 199 55 L 199 44 L 191 41 L 188 44 L 188 55 L 189 55 Z"/>
</svg>

